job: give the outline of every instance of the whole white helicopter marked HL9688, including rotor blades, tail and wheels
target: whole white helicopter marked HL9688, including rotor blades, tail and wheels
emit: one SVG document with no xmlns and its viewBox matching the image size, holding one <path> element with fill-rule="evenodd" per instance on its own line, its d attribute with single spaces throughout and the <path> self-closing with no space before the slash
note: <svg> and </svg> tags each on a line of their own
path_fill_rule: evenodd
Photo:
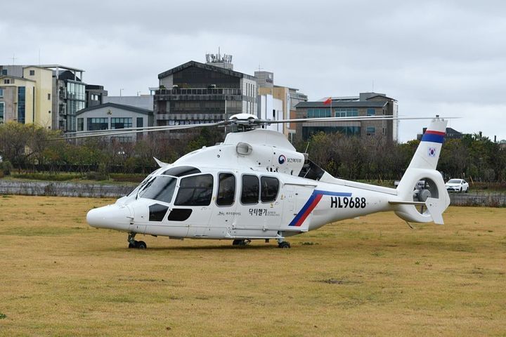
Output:
<svg viewBox="0 0 506 337">
<path fill-rule="evenodd" d="M 343 120 L 333 117 L 265 121 L 251 114 L 237 114 L 228 121 L 204 124 L 235 124 L 244 132 L 228 133 L 223 143 L 202 147 L 172 164 L 155 159 L 159 169 L 115 204 L 91 209 L 86 220 L 92 227 L 127 232 L 129 248 L 137 249 L 147 245 L 137 241 L 136 234 L 231 239 L 233 245 L 245 245 L 253 239 L 275 239 L 280 248 L 290 248 L 287 237 L 382 211 L 394 211 L 408 225 L 431 221 L 443 224 L 442 213 L 450 204 L 450 197 L 436 171 L 447 124 L 439 116 L 432 119 L 397 188 L 335 178 L 306 154 L 297 152 L 283 134 L 257 128 L 287 121 L 337 119 Z M 366 119 L 375 117 L 344 118 Z M 74 138 L 82 137 L 86 136 Z M 424 180 L 429 188 L 414 194 L 419 180 Z"/>
</svg>

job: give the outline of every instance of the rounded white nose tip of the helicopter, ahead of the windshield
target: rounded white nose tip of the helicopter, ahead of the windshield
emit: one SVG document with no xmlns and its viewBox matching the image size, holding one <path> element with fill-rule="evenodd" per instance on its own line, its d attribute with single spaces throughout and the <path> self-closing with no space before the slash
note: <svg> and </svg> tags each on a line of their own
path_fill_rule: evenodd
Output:
<svg viewBox="0 0 506 337">
<path fill-rule="evenodd" d="M 129 207 L 112 204 L 92 209 L 86 215 L 86 221 L 91 227 L 128 230 L 132 217 Z"/>
</svg>

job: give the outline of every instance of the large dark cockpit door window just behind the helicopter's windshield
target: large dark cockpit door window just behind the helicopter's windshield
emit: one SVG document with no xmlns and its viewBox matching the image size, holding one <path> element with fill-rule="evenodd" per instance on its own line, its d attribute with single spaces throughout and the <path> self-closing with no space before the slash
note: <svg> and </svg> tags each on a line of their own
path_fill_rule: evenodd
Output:
<svg viewBox="0 0 506 337">
<path fill-rule="evenodd" d="M 182 178 L 174 205 L 209 206 L 212 199 L 213 178 L 210 174 Z"/>
</svg>

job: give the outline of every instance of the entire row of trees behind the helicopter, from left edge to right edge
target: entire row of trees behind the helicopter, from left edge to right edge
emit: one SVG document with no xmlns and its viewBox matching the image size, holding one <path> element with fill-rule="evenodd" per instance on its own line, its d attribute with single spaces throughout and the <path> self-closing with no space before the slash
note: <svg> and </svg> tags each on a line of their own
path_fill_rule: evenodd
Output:
<svg viewBox="0 0 506 337">
<path fill-rule="evenodd" d="M 133 143 L 108 138 L 55 140 L 59 131 L 32 124 L 9 122 L 0 125 L 0 156 L 13 169 L 58 173 L 72 166 L 74 171 L 148 173 L 155 167 L 153 157 L 173 162 L 202 146 L 222 142 L 223 128 L 196 128 L 178 133 L 150 133 Z M 420 142 L 393 143 L 384 138 L 349 137 L 339 133 L 317 133 L 295 145 L 299 152 L 325 171 L 346 179 L 396 180 L 401 178 Z M 9 164 L 6 164 L 9 163 Z M 506 147 L 478 134 L 446 140 L 438 170 L 445 178 L 471 178 L 503 182 L 506 179 Z"/>
</svg>

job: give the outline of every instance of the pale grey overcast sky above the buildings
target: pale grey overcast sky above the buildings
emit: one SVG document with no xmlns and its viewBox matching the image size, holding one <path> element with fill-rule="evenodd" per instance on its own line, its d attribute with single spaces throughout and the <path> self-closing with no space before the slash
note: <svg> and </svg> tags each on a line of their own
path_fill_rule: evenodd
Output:
<svg viewBox="0 0 506 337">
<path fill-rule="evenodd" d="M 0 63 L 85 70 L 109 95 L 206 53 L 309 100 L 372 91 L 407 117 L 506 139 L 506 1 L 4 1 Z M 401 121 L 401 141 L 425 121 Z"/>
</svg>

